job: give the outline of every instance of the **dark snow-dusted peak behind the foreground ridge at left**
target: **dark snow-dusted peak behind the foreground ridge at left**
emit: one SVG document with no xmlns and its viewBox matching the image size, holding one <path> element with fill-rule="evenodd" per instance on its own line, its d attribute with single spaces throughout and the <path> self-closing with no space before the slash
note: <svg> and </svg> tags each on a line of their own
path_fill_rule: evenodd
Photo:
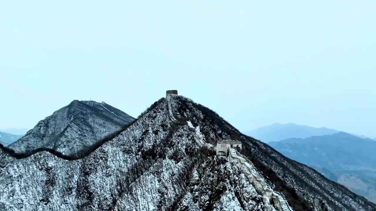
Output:
<svg viewBox="0 0 376 211">
<path fill-rule="evenodd" d="M 134 118 L 105 102 L 74 100 L 55 111 L 8 146 L 20 157 L 37 151 L 53 150 L 79 156 L 130 124 Z"/>
</svg>

